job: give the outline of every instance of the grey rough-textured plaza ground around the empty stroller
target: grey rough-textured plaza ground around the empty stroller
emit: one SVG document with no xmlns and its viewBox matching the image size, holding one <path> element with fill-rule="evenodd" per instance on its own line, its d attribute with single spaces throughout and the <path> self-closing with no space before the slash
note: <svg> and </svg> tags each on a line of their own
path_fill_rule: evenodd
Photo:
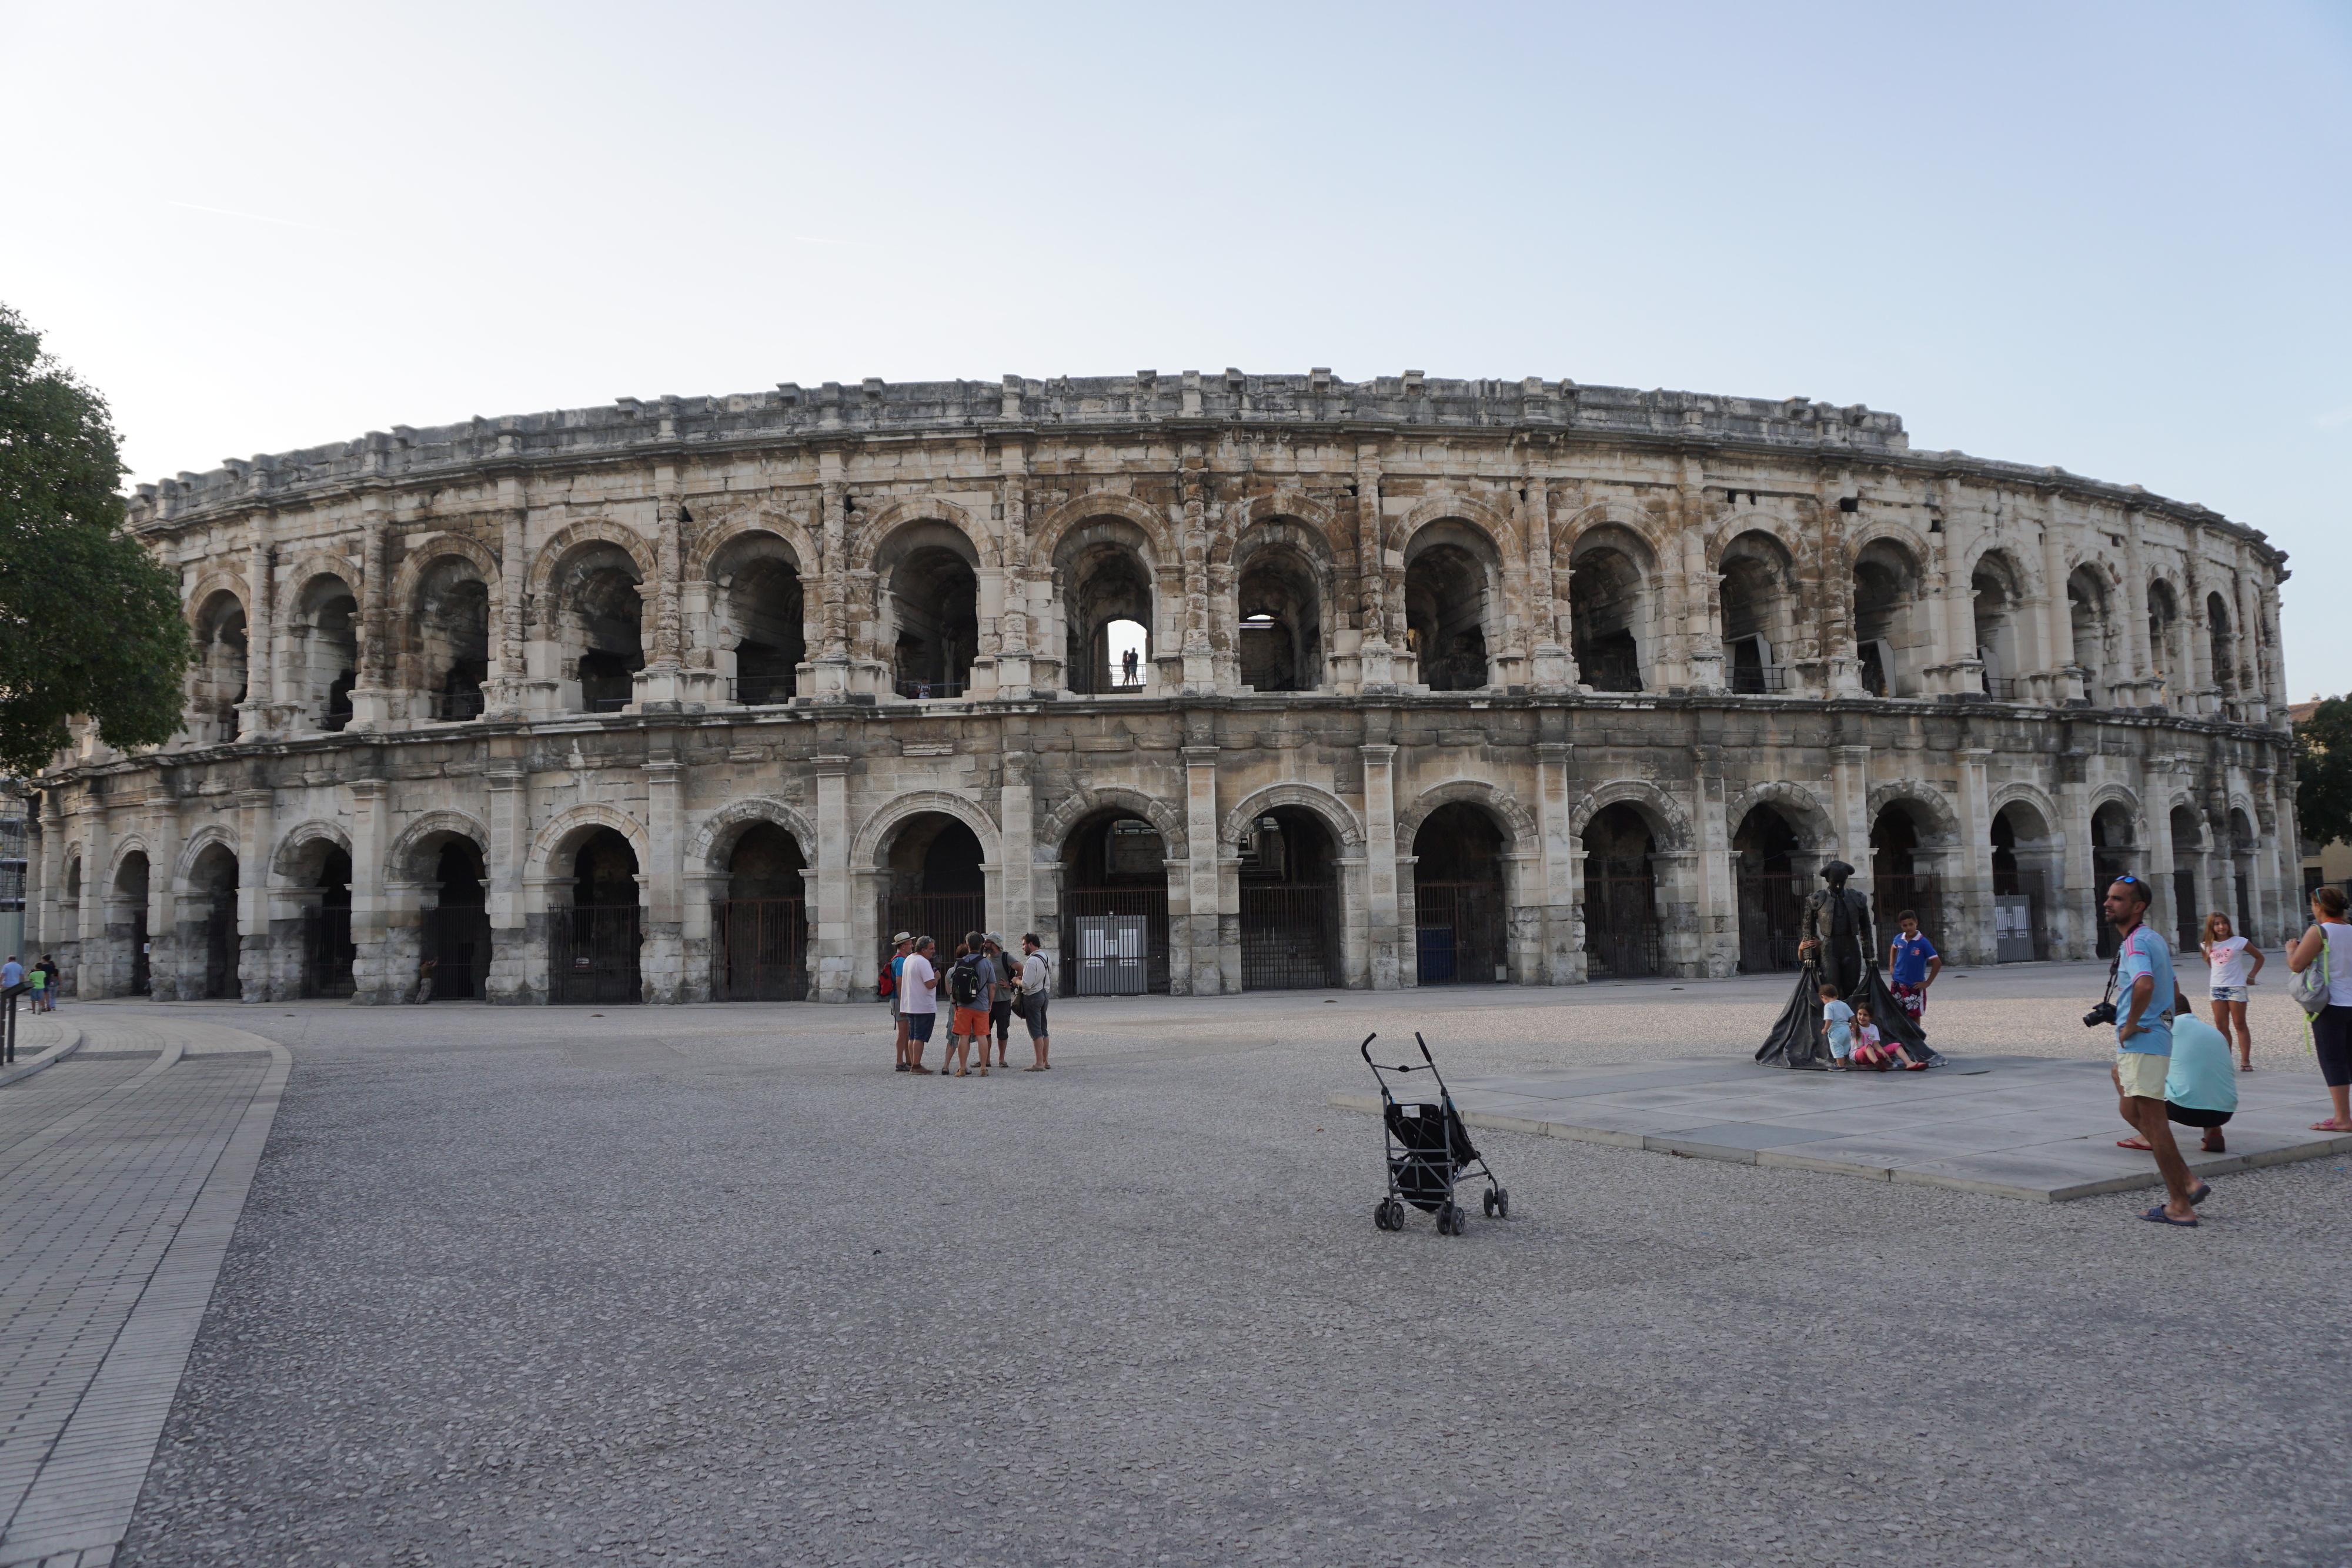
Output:
<svg viewBox="0 0 2352 1568">
<path fill-rule="evenodd" d="M 2100 978 L 1947 973 L 1929 1025 L 2086 1072 Z M 1679 1070 L 1785 990 L 1065 1001 L 990 1079 L 891 1074 L 880 1009 L 89 1004 L 0 1126 L 172 1039 L 214 1056 L 148 1088 L 240 1119 L 292 1063 L 118 1563 L 2352 1561 L 2340 1154 L 2180 1232 L 1494 1128 L 1508 1222 L 1374 1229 L 1367 1030 Z M 2256 997 L 2249 1088 L 2307 1072 Z"/>
</svg>

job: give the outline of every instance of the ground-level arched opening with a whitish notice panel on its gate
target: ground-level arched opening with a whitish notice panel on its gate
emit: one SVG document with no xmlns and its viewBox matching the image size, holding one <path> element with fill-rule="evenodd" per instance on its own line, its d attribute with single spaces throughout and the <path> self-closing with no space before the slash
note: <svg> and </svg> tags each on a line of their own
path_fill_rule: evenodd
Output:
<svg viewBox="0 0 2352 1568">
<path fill-rule="evenodd" d="M 1063 990 L 1134 997 L 1169 987 L 1167 842 L 1143 816 L 1098 811 L 1061 844 Z"/>
</svg>

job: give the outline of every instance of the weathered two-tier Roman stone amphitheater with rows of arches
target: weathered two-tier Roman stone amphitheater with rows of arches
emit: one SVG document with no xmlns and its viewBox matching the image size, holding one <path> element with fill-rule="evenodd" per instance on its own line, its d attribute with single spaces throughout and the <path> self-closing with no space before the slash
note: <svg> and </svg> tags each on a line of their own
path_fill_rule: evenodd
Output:
<svg viewBox="0 0 2352 1568">
<path fill-rule="evenodd" d="M 188 729 L 38 780 L 85 997 L 1065 992 L 1947 954 L 2296 914 L 2284 555 L 1809 400 L 1329 371 L 628 400 L 141 484 Z"/>
</svg>

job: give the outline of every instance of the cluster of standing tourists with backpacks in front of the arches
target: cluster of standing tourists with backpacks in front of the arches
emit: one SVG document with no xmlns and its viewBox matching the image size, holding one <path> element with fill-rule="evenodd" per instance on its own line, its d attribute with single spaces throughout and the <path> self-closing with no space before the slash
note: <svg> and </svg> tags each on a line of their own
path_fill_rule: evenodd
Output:
<svg viewBox="0 0 2352 1568">
<path fill-rule="evenodd" d="M 1037 1056 L 1021 1072 L 1047 1072 L 1054 1065 L 1047 1060 L 1054 1041 L 1047 1037 L 1044 1023 L 1054 966 L 1035 931 L 1021 938 L 1021 954 L 1014 961 L 1004 952 L 1004 938 L 995 931 L 967 931 L 955 957 L 941 964 L 934 938 L 913 931 L 896 933 L 880 990 L 889 997 L 898 1072 L 931 1074 L 922 1065 L 922 1051 L 938 1025 L 941 1004 L 950 1009 L 941 1074 L 985 1079 L 990 1039 L 997 1046 L 997 1067 L 1009 1067 L 1004 1051 L 1011 1041 L 1014 1018 L 1028 1025 L 1030 1048 Z M 974 1048 L 978 1067 L 971 1067 Z"/>
</svg>

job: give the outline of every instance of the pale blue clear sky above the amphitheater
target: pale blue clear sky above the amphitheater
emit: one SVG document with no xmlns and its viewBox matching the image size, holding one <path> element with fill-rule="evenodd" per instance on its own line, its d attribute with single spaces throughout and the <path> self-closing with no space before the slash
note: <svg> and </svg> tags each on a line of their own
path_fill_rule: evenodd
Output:
<svg viewBox="0 0 2352 1568">
<path fill-rule="evenodd" d="M 139 480 L 776 381 L 1867 402 L 2293 552 L 2352 689 L 2352 7 L 26 5 L 0 299 Z"/>
</svg>

